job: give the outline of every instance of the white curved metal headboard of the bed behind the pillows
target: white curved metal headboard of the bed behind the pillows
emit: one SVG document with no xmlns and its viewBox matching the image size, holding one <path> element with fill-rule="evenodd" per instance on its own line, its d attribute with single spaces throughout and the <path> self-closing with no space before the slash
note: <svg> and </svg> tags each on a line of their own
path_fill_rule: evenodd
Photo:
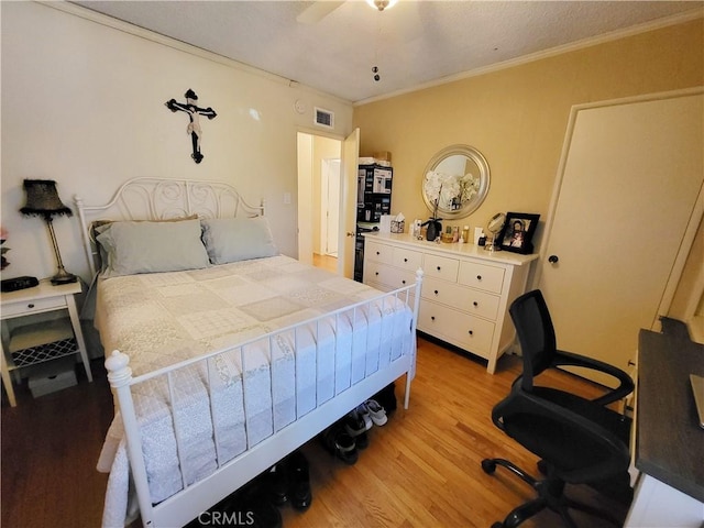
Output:
<svg viewBox="0 0 704 528">
<path fill-rule="evenodd" d="M 74 197 L 80 221 L 88 266 L 96 274 L 98 250 L 92 237 L 97 220 L 168 220 L 197 215 L 199 218 L 258 217 L 264 215 L 264 201 L 252 206 L 234 187 L 223 182 L 133 178 L 101 206 L 87 206 L 80 196 Z"/>
</svg>

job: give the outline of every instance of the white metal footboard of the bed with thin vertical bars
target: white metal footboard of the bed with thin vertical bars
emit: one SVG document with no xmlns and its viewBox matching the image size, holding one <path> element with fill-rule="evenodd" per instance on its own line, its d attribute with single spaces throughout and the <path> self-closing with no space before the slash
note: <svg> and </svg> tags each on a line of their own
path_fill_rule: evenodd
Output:
<svg viewBox="0 0 704 528">
<path fill-rule="evenodd" d="M 404 374 L 408 408 L 421 284 L 418 270 L 415 285 L 139 377 L 129 358 L 113 351 L 106 367 L 143 526 L 189 522 Z M 200 385 L 187 392 L 185 378 Z M 158 504 L 145 448 L 151 431 L 133 400 L 145 384 L 166 399 L 180 479 L 179 490 Z M 186 408 L 208 415 L 207 441 L 194 442 L 193 422 L 183 427 Z M 189 459 L 194 443 L 211 448 L 207 474 Z"/>
</svg>

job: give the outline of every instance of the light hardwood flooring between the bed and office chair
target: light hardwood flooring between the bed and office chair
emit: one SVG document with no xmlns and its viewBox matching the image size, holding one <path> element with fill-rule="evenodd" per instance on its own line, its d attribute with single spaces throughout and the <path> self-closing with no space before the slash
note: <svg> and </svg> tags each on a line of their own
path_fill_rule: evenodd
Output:
<svg viewBox="0 0 704 528">
<path fill-rule="evenodd" d="M 536 457 L 491 420 L 492 407 L 508 393 L 519 372 L 516 356 L 503 358 L 497 374 L 491 375 L 484 362 L 419 339 L 408 410 L 400 405 L 403 383 L 397 383 L 398 409 L 386 426 L 370 431 L 370 447 L 360 452 L 355 465 L 307 444 L 314 502 L 304 514 L 284 508 L 284 526 L 486 528 L 503 520 L 534 492 L 501 468 L 493 476 L 485 474 L 482 459 L 506 458 L 537 474 Z M 585 396 L 600 394 L 571 374 L 551 375 L 551 385 Z M 570 492 L 625 518 L 626 508 L 588 488 Z M 581 514 L 574 518 L 583 527 L 612 526 Z M 561 522 L 544 512 L 521 526 L 551 528 Z"/>
</svg>

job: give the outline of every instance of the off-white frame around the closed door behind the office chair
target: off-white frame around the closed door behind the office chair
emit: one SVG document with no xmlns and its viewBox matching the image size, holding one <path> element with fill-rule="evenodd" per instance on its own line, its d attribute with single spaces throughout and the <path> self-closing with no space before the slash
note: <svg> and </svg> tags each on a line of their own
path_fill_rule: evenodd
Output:
<svg viewBox="0 0 704 528">
<path fill-rule="evenodd" d="M 595 108 L 605 108 L 620 105 L 631 105 L 635 102 L 647 102 L 647 101 L 657 101 L 664 99 L 673 99 L 679 97 L 689 97 L 689 96 L 697 96 L 704 94 L 704 86 L 698 86 L 695 88 L 686 88 L 682 90 L 672 90 L 672 91 L 663 91 L 656 94 L 647 94 L 642 96 L 635 97 L 626 97 L 620 99 L 608 99 L 605 101 L 596 101 L 588 102 L 582 105 L 574 105 L 570 110 L 570 118 L 568 121 L 566 133 L 564 135 L 564 141 L 562 143 L 562 153 L 560 155 L 560 163 L 558 165 L 558 174 L 554 179 L 553 188 L 552 188 L 552 197 L 550 199 L 550 206 L 548 209 L 548 217 L 546 219 L 544 230 L 542 242 L 540 243 L 540 258 L 538 258 L 538 265 L 536 266 L 536 273 L 531 280 L 531 288 L 537 288 L 540 284 L 540 279 L 542 277 L 542 272 L 546 266 L 546 262 L 548 258 L 548 246 L 550 242 L 550 234 L 554 223 L 554 216 L 558 209 L 558 201 L 560 199 L 560 190 L 562 188 L 562 182 L 564 177 L 564 172 L 566 167 L 568 157 L 570 154 L 570 145 L 572 144 L 572 136 L 574 133 L 574 128 L 576 124 L 578 114 L 582 110 L 590 110 Z M 692 215 L 688 222 L 684 235 L 680 243 L 680 248 L 678 250 L 678 254 L 674 258 L 674 264 L 672 266 L 672 271 L 670 276 L 668 277 L 668 282 L 666 285 L 664 293 L 660 299 L 660 305 L 658 306 L 658 311 L 654 320 L 651 324 L 651 330 L 660 331 L 660 318 L 667 316 L 670 306 L 672 305 L 672 299 L 674 297 L 674 293 L 676 290 L 678 284 L 682 277 L 682 273 L 684 271 L 684 266 L 686 264 L 686 257 L 690 254 L 690 250 L 694 242 L 694 237 L 696 235 L 696 231 L 698 226 L 704 217 L 704 185 L 700 188 L 698 196 L 696 198 L 696 202 L 692 210 Z"/>
</svg>

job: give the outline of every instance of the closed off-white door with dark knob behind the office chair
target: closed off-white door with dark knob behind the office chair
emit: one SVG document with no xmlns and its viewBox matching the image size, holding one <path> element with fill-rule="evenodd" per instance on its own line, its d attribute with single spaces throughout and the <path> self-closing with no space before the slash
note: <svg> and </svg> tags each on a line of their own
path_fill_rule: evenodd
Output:
<svg viewBox="0 0 704 528">
<path fill-rule="evenodd" d="M 539 280 L 559 348 L 628 371 L 639 329 L 658 323 L 702 187 L 702 99 L 573 113 Z"/>
</svg>

